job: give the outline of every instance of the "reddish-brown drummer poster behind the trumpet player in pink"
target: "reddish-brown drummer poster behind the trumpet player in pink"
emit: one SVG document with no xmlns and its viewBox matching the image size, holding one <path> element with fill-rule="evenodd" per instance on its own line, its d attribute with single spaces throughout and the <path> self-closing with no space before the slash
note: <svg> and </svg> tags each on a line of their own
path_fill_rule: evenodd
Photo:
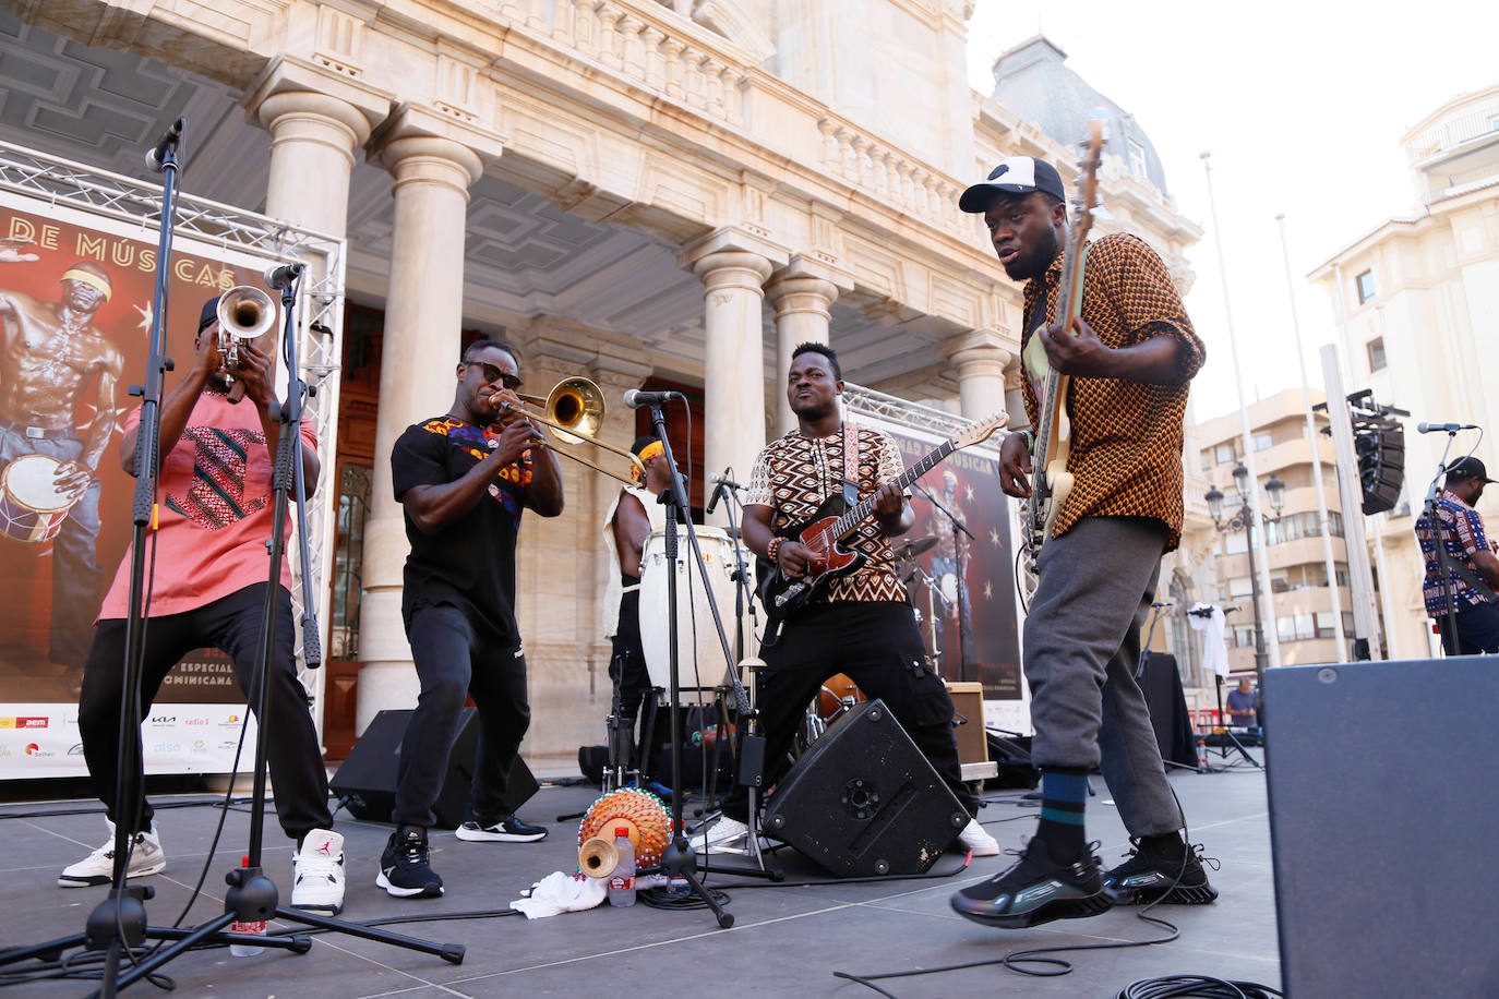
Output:
<svg viewBox="0 0 1499 999">
<path fill-rule="evenodd" d="M 145 382 L 156 241 L 0 192 L 0 780 L 84 773 L 78 686 L 133 532 L 120 439 Z M 249 255 L 181 235 L 169 276 L 166 353 L 184 371 L 202 304 L 261 279 Z M 228 770 L 244 714 L 229 664 L 192 656 L 145 719 L 147 771 Z"/>
</svg>

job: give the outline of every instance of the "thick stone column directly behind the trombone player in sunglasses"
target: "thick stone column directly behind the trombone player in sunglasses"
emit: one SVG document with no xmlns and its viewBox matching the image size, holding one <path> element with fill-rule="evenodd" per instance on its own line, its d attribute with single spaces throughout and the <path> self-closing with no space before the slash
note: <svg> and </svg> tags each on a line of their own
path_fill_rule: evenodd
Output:
<svg viewBox="0 0 1499 999">
<path fill-rule="evenodd" d="M 469 147 L 436 136 L 387 141 L 394 234 L 381 355 L 375 476 L 364 526 L 357 726 L 388 707 L 412 707 L 417 674 L 400 619 L 405 521 L 391 494 L 390 452 L 408 425 L 453 404 L 463 319 L 468 189 L 483 165 Z"/>
</svg>

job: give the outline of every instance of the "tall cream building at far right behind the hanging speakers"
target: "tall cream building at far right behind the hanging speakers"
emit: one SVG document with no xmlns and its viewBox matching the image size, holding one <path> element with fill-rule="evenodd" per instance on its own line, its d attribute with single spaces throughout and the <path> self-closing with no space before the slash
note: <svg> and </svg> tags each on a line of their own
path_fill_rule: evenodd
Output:
<svg viewBox="0 0 1499 999">
<path fill-rule="evenodd" d="M 1499 431 L 1499 85 L 1447 102 L 1400 145 L 1420 208 L 1348 244 L 1312 280 L 1340 318 L 1349 392 L 1370 389 L 1411 413 L 1403 496 L 1369 518 L 1367 533 L 1388 655 L 1412 659 L 1439 647 L 1421 599 L 1414 526 L 1447 445 L 1445 434 L 1418 434 L 1417 424 Z M 1448 461 L 1469 452 L 1490 467 L 1499 457 L 1487 439 L 1465 431 Z M 1480 512 L 1493 523 L 1493 496 Z"/>
</svg>

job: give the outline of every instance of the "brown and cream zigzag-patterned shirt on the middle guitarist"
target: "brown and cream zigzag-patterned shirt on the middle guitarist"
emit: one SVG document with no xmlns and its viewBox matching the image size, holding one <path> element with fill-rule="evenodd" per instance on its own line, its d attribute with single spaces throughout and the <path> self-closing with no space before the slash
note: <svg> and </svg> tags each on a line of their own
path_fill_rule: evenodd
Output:
<svg viewBox="0 0 1499 999">
<path fill-rule="evenodd" d="M 905 470 L 901 449 L 887 433 L 859 427 L 859 499 Z M 745 493 L 745 506 L 769 506 L 770 527 L 776 533 L 805 524 L 829 496 L 842 496 L 842 428 L 827 437 L 808 437 L 793 430 L 764 446 L 755 458 Z M 895 575 L 890 539 L 871 514 L 844 542 L 862 551 L 859 571 L 833 580 L 814 602 L 827 601 L 904 601 L 905 587 Z"/>
</svg>

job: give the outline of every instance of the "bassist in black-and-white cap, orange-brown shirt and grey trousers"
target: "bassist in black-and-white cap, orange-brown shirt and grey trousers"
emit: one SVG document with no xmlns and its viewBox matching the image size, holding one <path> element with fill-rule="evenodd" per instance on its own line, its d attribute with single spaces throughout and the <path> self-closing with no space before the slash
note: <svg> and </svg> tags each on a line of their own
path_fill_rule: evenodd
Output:
<svg viewBox="0 0 1499 999">
<path fill-rule="evenodd" d="M 1181 419 L 1205 352 L 1160 258 L 1127 234 L 1099 238 L 1084 258 L 1082 309 L 1054 325 L 1067 204 L 1057 169 L 1030 156 L 1000 163 L 959 207 L 983 214 L 1010 280 L 1025 282 L 1021 349 L 1039 337 L 1052 368 L 1070 377 L 1070 494 L 1040 548 L 1025 619 L 1024 668 L 1042 770 L 1042 813 L 1024 857 L 952 896 L 959 914 L 1006 929 L 1157 899 L 1217 897 L 1181 836 L 1145 698 L 1135 683 L 1139 629 L 1160 557 L 1181 536 Z M 1033 373 L 1022 383 L 1028 424 L 1040 409 Z M 1000 451 L 1000 485 L 1028 497 L 1027 434 Z M 1103 770 L 1135 843 L 1102 872 L 1084 834 L 1087 774 Z"/>
</svg>

